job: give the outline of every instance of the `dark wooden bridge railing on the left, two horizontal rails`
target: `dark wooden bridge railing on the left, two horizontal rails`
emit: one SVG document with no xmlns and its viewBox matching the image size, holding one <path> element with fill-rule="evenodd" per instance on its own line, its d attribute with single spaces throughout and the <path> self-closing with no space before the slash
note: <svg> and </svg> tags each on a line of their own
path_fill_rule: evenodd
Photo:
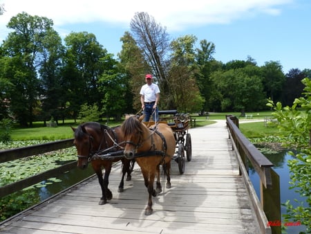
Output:
<svg viewBox="0 0 311 234">
<path fill-rule="evenodd" d="M 16 159 L 22 159 L 28 156 L 43 154 L 46 152 L 60 150 L 60 149 L 64 149 L 64 148 L 68 148 L 72 146 L 73 146 L 73 138 L 68 139 L 68 140 L 55 141 L 52 143 L 44 143 L 40 145 L 20 147 L 20 148 L 16 148 L 12 150 L 1 150 L 0 151 L 0 163 L 4 163 L 7 161 L 12 161 Z M 59 166 L 58 168 L 47 170 L 45 172 L 36 174 L 35 176 L 28 177 L 26 179 L 21 179 L 20 181 L 16 181 L 14 183 L 9 183 L 6 186 L 0 187 L 0 198 L 6 195 L 10 195 L 13 192 L 22 190 L 23 188 L 32 186 L 48 178 L 55 177 L 55 175 L 59 175 L 60 173 L 64 173 L 75 167 L 77 167 L 77 161 L 66 163 L 64 165 Z"/>
</svg>

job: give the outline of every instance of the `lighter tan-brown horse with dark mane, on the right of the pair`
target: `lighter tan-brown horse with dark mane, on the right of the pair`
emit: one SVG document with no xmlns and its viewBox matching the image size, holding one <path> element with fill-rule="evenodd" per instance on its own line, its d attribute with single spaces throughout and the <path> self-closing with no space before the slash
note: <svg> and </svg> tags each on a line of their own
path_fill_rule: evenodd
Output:
<svg viewBox="0 0 311 234">
<path fill-rule="evenodd" d="M 126 116 L 121 129 L 126 143 L 124 156 L 126 159 L 134 159 L 142 170 L 144 185 L 149 192 L 148 205 L 145 215 L 152 213 L 152 196 L 162 191 L 160 183 L 160 165 L 165 165 L 167 174 L 167 188 L 171 188 L 171 158 L 175 153 L 176 140 L 171 127 L 164 123 L 158 123 L 149 129 L 142 119 L 135 116 Z M 156 190 L 153 188 L 154 179 L 157 175 Z"/>
</svg>

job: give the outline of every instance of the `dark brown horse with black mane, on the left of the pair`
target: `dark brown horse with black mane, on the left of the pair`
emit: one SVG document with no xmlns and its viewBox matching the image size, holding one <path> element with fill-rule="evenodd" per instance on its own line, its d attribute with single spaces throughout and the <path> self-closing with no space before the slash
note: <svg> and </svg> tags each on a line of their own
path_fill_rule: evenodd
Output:
<svg viewBox="0 0 311 234">
<path fill-rule="evenodd" d="M 77 166 L 85 169 L 88 166 L 88 162 L 91 161 L 93 170 L 97 174 L 100 187 L 102 188 L 102 198 L 99 204 L 106 204 L 107 200 L 113 197 L 111 190 L 108 188 L 112 163 L 122 161 L 122 179 L 118 192 L 123 192 L 124 190 L 124 176 L 126 172 L 126 181 L 129 181 L 131 180 L 131 171 L 133 170 L 134 161 L 129 161 L 122 155 L 122 145 L 119 145 L 123 141 L 120 127 L 110 128 L 100 123 L 88 122 L 79 125 L 77 128 L 71 128 L 75 137 L 73 143 L 77 148 Z M 110 159 L 101 157 L 101 154 L 117 153 L 118 151 L 120 151 L 120 156 L 111 156 Z M 102 167 L 105 169 L 104 179 L 102 177 Z"/>
</svg>

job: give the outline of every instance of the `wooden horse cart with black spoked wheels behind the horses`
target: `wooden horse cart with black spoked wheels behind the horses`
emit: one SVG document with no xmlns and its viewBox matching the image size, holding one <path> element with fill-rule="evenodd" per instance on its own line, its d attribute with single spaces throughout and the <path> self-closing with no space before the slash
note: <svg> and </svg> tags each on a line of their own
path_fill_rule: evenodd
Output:
<svg viewBox="0 0 311 234">
<path fill-rule="evenodd" d="M 177 110 L 159 111 L 159 123 L 167 123 L 173 130 L 176 140 L 176 153 L 173 156 L 174 161 L 178 163 L 180 174 L 185 172 L 185 161 L 191 161 L 191 135 L 188 132 L 190 116 L 189 114 L 179 114 Z M 154 122 L 144 123 L 149 127 Z"/>
</svg>

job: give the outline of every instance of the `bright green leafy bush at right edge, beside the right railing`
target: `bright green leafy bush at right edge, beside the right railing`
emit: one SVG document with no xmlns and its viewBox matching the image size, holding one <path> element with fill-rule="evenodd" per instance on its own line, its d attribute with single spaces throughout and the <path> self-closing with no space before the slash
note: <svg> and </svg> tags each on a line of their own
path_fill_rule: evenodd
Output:
<svg viewBox="0 0 311 234">
<path fill-rule="evenodd" d="M 306 226 L 306 231 L 311 232 L 311 80 L 305 78 L 302 82 L 305 84 L 305 97 L 296 98 L 292 107 L 282 107 L 281 102 L 274 104 L 272 100 L 268 100 L 267 106 L 274 108 L 275 112 L 272 115 L 279 120 L 279 128 L 290 133 L 286 145 L 296 147 L 300 152 L 296 154 L 296 159 L 288 161 L 288 165 L 291 172 L 291 188 L 296 188 L 296 192 L 299 192 L 305 201 L 295 200 L 296 206 L 292 201 L 283 204 L 287 209 L 287 214 L 284 215 L 285 222 L 290 219 L 301 222 Z"/>
</svg>

